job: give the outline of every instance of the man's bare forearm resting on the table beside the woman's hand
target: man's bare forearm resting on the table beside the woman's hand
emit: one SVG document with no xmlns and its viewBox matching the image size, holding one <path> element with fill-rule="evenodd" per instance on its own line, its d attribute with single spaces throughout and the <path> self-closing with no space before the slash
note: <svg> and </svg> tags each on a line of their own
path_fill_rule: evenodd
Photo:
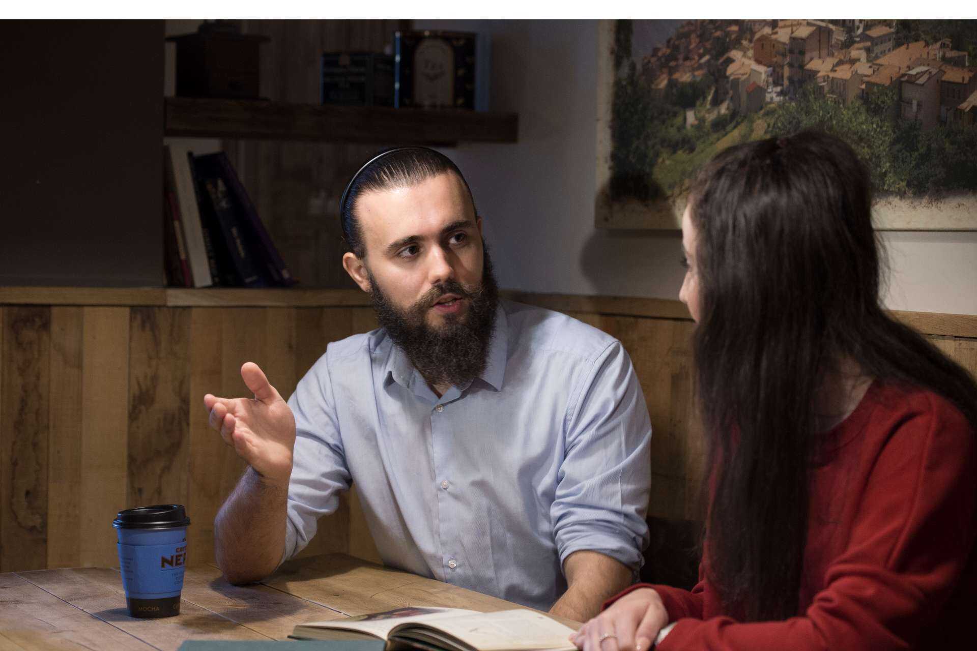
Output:
<svg viewBox="0 0 977 651">
<path fill-rule="evenodd" d="M 601 605 L 631 585 L 631 570 L 598 551 L 574 551 L 564 562 L 570 588 L 550 612 L 577 622 L 586 622 L 601 611 Z"/>
</svg>

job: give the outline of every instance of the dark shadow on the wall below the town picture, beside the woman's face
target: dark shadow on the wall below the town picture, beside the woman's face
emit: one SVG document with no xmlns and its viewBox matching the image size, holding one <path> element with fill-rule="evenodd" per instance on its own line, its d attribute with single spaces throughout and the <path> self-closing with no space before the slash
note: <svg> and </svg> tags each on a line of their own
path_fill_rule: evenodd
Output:
<svg viewBox="0 0 977 651">
<path fill-rule="evenodd" d="M 580 268 L 601 296 L 678 299 L 682 286 L 678 230 L 594 229 L 580 252 Z"/>
</svg>

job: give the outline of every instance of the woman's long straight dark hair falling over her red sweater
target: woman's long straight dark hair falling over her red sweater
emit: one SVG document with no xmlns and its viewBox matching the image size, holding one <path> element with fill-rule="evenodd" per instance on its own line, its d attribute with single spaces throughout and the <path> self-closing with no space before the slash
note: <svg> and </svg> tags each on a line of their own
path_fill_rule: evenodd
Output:
<svg viewBox="0 0 977 651">
<path fill-rule="evenodd" d="M 798 614 L 811 468 L 825 451 L 818 391 L 843 358 L 884 383 L 928 388 L 977 429 L 977 385 L 879 300 L 869 173 L 819 132 L 748 142 L 693 185 L 707 438 L 710 581 L 745 621 Z"/>
</svg>

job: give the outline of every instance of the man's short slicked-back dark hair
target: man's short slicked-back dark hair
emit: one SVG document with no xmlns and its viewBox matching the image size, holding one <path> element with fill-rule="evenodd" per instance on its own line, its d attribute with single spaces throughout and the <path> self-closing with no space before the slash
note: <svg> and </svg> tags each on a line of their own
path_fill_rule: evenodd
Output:
<svg viewBox="0 0 977 651">
<path fill-rule="evenodd" d="M 374 155 L 366 161 L 360 171 L 353 175 L 343 192 L 339 206 L 339 221 L 343 228 L 343 239 L 347 248 L 358 258 L 366 251 L 362 243 L 362 230 L 356 214 L 357 201 L 363 192 L 410 187 L 442 174 L 453 173 L 468 190 L 475 210 L 475 197 L 461 170 L 440 151 L 428 147 L 394 147 Z"/>
</svg>

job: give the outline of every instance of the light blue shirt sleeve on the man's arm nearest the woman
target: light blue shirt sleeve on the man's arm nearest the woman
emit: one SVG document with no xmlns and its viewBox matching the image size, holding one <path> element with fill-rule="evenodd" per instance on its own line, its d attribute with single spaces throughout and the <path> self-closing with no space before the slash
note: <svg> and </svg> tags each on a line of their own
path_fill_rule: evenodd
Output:
<svg viewBox="0 0 977 651">
<path fill-rule="evenodd" d="M 576 384 L 550 509 L 560 562 L 587 549 L 637 570 L 649 540 L 652 426 L 645 397 L 619 342 L 597 355 Z"/>
</svg>

